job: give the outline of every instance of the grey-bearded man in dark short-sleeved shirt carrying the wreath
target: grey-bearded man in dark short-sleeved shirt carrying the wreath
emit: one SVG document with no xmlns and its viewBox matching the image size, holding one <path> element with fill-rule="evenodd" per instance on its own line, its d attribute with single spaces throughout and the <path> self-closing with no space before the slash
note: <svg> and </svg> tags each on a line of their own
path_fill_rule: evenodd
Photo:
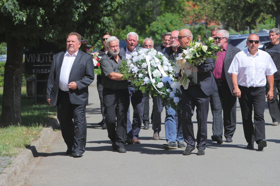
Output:
<svg viewBox="0 0 280 186">
<path fill-rule="evenodd" d="M 129 92 L 128 82 L 122 79 L 123 74 L 119 73 L 119 67 L 126 59 L 119 54 L 119 40 L 115 36 L 107 39 L 106 47 L 108 53 L 100 62 L 105 123 L 113 150 L 125 153 Z"/>
</svg>

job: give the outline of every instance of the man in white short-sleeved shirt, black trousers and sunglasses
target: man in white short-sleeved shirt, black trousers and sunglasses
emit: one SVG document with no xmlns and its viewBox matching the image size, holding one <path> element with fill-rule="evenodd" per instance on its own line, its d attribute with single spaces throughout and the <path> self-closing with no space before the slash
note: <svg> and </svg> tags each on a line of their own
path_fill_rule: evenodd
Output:
<svg viewBox="0 0 280 186">
<path fill-rule="evenodd" d="M 234 56 L 228 73 L 231 74 L 233 94 L 239 98 L 247 149 L 253 149 L 256 141 L 258 149 L 263 150 L 267 146 L 264 120 L 266 78 L 269 84 L 266 97 L 267 100 L 271 100 L 273 74 L 277 69 L 271 56 L 263 50 L 258 50 L 260 45 L 258 35 L 250 34 L 246 44 L 248 48 Z"/>
</svg>

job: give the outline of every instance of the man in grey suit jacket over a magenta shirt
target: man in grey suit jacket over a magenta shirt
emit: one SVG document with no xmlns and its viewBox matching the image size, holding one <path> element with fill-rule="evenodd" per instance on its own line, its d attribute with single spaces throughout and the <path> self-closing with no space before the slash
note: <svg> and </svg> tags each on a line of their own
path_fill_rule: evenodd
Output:
<svg viewBox="0 0 280 186">
<path fill-rule="evenodd" d="M 223 125 L 224 137 L 228 143 L 232 142 L 232 136 L 236 128 L 236 96 L 232 93 L 233 84 L 231 75 L 227 71 L 235 54 L 240 52 L 240 49 L 228 45 L 228 37 L 229 33 L 226 30 L 218 30 L 214 37 L 218 47 L 223 50 L 217 53 L 215 69 L 213 70 L 218 89 L 210 96 L 210 105 L 213 114 L 213 136 L 211 138 L 213 141 L 217 141 L 218 144 L 223 143 Z"/>
</svg>

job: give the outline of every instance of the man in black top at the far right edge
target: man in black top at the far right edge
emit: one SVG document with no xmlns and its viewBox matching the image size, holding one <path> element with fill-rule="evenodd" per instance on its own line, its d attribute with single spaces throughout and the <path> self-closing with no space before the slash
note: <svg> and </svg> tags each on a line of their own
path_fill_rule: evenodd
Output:
<svg viewBox="0 0 280 186">
<path fill-rule="evenodd" d="M 274 84 L 273 84 L 273 98 L 267 101 L 269 114 L 272 119 L 272 125 L 277 126 L 280 122 L 280 103 L 278 100 L 278 94 L 280 94 L 280 44 L 279 44 L 280 32 L 279 29 L 271 29 L 269 31 L 270 42 L 263 45 L 263 50 L 269 53 L 271 56 L 277 72 L 273 74 Z M 269 90 L 269 85 L 266 85 L 266 92 Z"/>
</svg>

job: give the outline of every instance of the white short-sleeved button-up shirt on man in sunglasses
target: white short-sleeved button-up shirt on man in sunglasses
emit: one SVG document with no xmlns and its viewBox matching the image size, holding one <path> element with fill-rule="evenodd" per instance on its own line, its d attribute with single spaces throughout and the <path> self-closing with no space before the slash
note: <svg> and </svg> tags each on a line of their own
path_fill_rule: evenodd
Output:
<svg viewBox="0 0 280 186">
<path fill-rule="evenodd" d="M 238 52 L 228 69 L 228 73 L 237 75 L 237 83 L 246 87 L 261 87 L 266 84 L 266 76 L 273 75 L 277 68 L 271 56 L 258 50 L 255 56 L 251 55 L 248 48 Z"/>
</svg>

